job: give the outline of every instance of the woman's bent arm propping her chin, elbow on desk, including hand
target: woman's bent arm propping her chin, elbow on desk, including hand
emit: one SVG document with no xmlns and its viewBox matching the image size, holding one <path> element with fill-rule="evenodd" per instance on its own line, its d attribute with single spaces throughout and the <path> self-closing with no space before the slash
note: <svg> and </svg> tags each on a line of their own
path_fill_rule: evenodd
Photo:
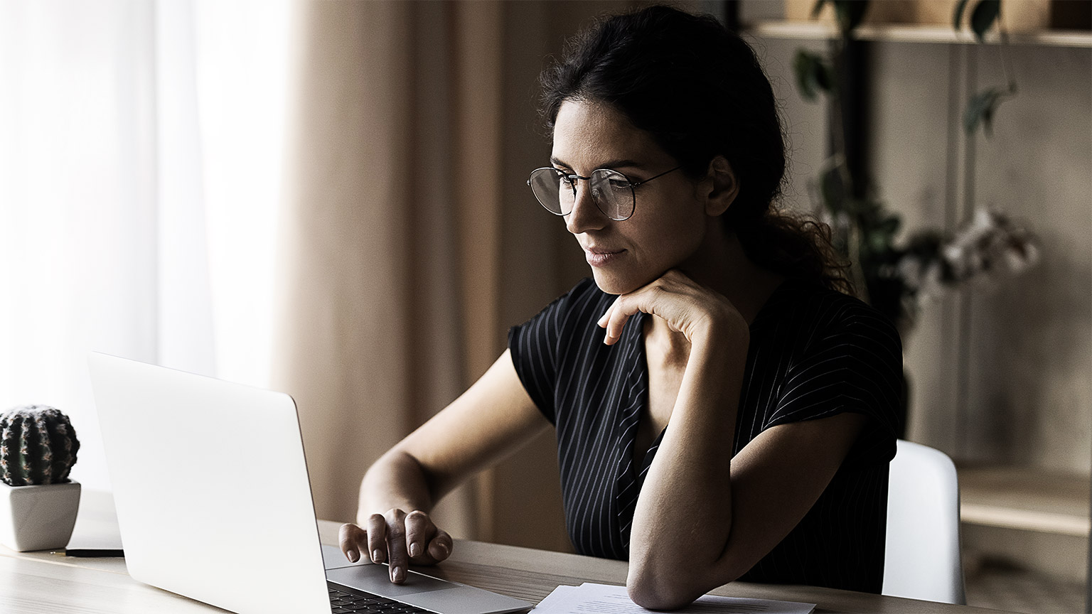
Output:
<svg viewBox="0 0 1092 614">
<path fill-rule="evenodd" d="M 677 272 L 616 300 L 607 342 L 637 311 L 690 341 L 670 427 L 641 487 L 627 587 L 639 605 L 670 610 L 735 580 L 800 521 L 865 424 L 860 414 L 769 428 L 732 458 L 749 344 L 724 297 Z"/>
</svg>

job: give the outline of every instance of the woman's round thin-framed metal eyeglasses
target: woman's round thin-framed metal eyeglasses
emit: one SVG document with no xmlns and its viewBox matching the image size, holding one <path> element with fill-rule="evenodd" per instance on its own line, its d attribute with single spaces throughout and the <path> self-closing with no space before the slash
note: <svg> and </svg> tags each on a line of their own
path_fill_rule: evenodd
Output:
<svg viewBox="0 0 1092 614">
<path fill-rule="evenodd" d="M 546 211 L 554 215 L 568 215 L 577 202 L 577 181 L 583 179 L 587 181 L 592 190 L 592 201 L 595 202 L 595 206 L 607 217 L 615 222 L 621 222 L 629 220 L 637 205 L 633 188 L 679 168 L 682 166 L 676 166 L 643 181 L 634 182 L 621 173 L 609 168 L 598 168 L 592 172 L 591 177 L 581 177 L 551 166 L 545 166 L 531 172 L 527 185 L 531 186 L 531 191 L 535 193 L 535 198 L 546 208 Z"/>
</svg>

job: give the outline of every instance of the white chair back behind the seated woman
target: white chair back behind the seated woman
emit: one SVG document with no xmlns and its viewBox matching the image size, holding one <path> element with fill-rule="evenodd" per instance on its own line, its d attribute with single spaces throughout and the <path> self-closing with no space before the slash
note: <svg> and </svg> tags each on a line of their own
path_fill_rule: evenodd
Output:
<svg viewBox="0 0 1092 614">
<path fill-rule="evenodd" d="M 900 439 L 888 486 L 883 594 L 964 604 L 959 540 L 954 463 Z"/>
</svg>

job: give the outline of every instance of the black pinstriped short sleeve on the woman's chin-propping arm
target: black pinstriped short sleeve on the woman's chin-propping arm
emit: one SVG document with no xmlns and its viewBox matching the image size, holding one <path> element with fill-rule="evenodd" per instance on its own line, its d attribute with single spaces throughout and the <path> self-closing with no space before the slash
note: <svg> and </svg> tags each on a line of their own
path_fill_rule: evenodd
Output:
<svg viewBox="0 0 1092 614">
<path fill-rule="evenodd" d="M 882 314 L 846 302 L 819 322 L 788 368 L 776 410 L 763 428 L 844 412 L 869 420 L 847 462 L 894 457 L 902 402 L 902 341 Z"/>
</svg>

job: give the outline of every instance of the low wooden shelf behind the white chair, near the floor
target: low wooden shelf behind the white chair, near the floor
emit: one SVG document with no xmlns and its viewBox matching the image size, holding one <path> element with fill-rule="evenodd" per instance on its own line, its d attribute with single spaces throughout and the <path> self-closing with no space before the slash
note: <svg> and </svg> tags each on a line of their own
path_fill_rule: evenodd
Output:
<svg viewBox="0 0 1092 614">
<path fill-rule="evenodd" d="M 1089 477 L 1014 467 L 958 469 L 963 522 L 1088 536 Z"/>
</svg>

